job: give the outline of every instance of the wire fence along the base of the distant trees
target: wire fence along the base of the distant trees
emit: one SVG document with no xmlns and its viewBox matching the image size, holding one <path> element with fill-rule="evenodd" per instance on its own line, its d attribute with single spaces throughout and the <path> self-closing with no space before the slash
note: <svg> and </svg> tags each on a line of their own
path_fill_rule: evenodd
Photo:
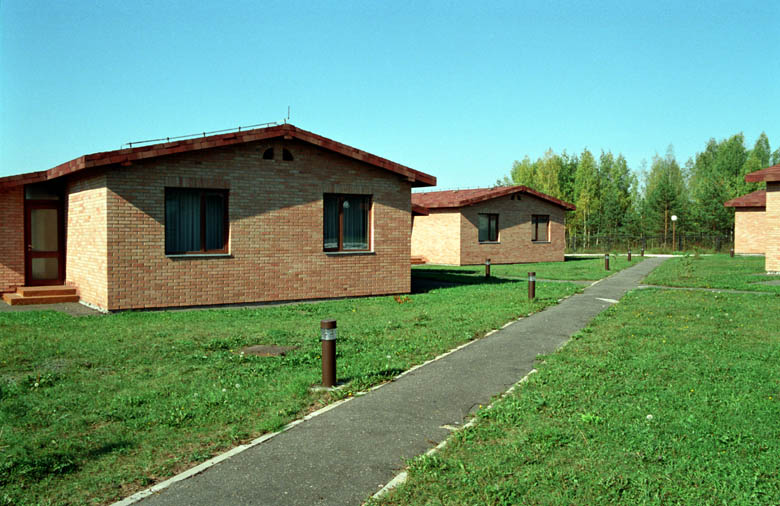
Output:
<svg viewBox="0 0 780 506">
<path fill-rule="evenodd" d="M 566 251 L 569 253 L 625 252 L 667 253 L 672 251 L 728 252 L 734 244 L 732 234 L 566 234 Z"/>
</svg>

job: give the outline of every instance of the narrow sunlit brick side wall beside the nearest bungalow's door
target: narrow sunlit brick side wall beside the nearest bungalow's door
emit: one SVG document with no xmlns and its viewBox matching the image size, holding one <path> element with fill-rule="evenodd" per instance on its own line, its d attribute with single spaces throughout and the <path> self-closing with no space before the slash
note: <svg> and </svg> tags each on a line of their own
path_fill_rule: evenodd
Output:
<svg viewBox="0 0 780 506">
<path fill-rule="evenodd" d="M 66 201 L 65 282 L 81 300 L 108 309 L 106 176 L 88 176 L 68 184 Z"/>
</svg>

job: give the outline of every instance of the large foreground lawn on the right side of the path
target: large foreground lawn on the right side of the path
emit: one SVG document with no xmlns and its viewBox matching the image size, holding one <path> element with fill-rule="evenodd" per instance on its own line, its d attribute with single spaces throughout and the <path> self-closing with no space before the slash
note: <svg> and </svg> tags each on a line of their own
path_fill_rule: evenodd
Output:
<svg viewBox="0 0 780 506">
<path fill-rule="evenodd" d="M 381 504 L 780 504 L 780 297 L 634 291 Z"/>
</svg>

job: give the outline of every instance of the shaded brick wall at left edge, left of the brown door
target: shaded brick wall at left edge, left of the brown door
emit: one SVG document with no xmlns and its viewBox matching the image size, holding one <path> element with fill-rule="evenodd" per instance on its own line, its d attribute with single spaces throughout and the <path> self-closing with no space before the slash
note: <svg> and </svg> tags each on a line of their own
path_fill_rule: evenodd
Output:
<svg viewBox="0 0 780 506">
<path fill-rule="evenodd" d="M 0 191 L 0 223 L 0 292 L 14 292 L 24 285 L 23 187 Z"/>
</svg>

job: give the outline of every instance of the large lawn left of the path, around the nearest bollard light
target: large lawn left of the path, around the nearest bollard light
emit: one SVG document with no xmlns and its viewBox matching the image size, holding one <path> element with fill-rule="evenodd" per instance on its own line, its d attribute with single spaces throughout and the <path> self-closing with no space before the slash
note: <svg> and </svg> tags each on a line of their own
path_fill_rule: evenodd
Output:
<svg viewBox="0 0 780 506">
<path fill-rule="evenodd" d="M 500 282 L 410 297 L 72 318 L 0 313 L 0 504 L 105 503 L 575 293 Z M 464 311 L 464 308 L 468 308 Z M 339 326 L 338 393 L 319 322 Z M 245 345 L 295 345 L 285 357 Z"/>
</svg>

